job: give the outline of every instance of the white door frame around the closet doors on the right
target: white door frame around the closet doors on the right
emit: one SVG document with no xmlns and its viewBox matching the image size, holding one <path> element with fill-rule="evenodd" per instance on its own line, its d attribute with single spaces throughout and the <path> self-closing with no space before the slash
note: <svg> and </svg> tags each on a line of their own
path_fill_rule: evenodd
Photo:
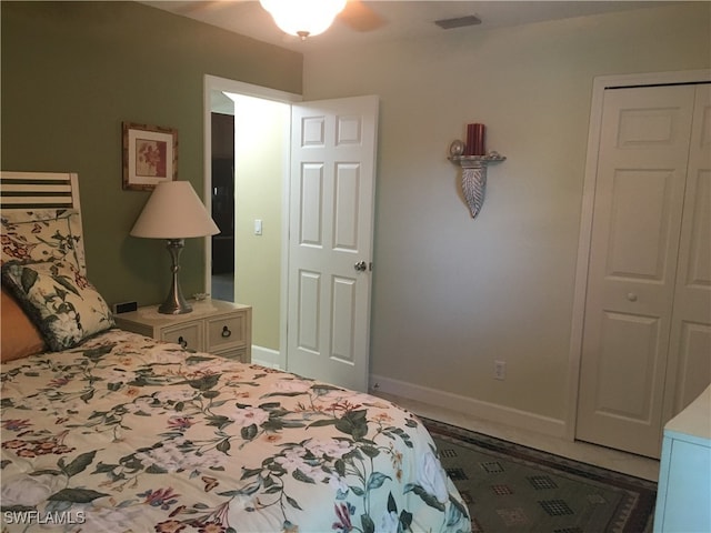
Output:
<svg viewBox="0 0 711 533">
<path fill-rule="evenodd" d="M 580 214 L 580 237 L 578 239 L 578 262 L 573 290 L 573 308 L 570 328 L 570 348 L 568 355 L 568 409 L 565 413 L 565 436 L 575 440 L 578 421 L 578 393 L 580 388 L 580 361 L 582 355 L 583 321 L 585 295 L 588 291 L 588 266 L 592 238 L 592 217 L 594 213 L 594 191 L 598 177 L 598 154 L 600 151 L 600 131 L 602 127 L 602 107 L 605 89 L 620 87 L 645 87 L 660 84 L 681 84 L 711 81 L 711 69 L 653 72 L 640 74 L 600 76 L 593 79 L 592 102 L 590 105 L 590 125 L 588 131 L 588 154 L 582 189 Z"/>
</svg>

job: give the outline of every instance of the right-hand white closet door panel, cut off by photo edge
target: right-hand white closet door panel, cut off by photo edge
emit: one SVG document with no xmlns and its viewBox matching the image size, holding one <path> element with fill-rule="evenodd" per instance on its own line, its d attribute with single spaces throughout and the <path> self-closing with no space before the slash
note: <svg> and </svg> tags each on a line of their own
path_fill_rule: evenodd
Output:
<svg viewBox="0 0 711 533">
<path fill-rule="evenodd" d="M 711 86 L 695 88 L 695 104 L 677 289 L 669 342 L 664 421 L 711 383 Z"/>
</svg>

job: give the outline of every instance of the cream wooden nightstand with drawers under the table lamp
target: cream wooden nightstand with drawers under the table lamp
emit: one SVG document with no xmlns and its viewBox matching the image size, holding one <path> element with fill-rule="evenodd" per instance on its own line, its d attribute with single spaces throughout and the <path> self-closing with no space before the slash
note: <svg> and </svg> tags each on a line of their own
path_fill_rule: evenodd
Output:
<svg viewBox="0 0 711 533">
<path fill-rule="evenodd" d="M 191 301 L 192 312 L 161 314 L 158 305 L 114 316 L 116 325 L 183 348 L 243 363 L 252 361 L 252 308 L 221 300 Z"/>
</svg>

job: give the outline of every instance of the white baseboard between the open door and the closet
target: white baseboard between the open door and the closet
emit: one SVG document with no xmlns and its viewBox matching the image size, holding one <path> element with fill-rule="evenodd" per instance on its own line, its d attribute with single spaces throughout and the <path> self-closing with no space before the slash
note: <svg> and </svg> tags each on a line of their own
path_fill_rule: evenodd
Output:
<svg viewBox="0 0 711 533">
<path fill-rule="evenodd" d="M 384 378 L 382 375 L 370 376 L 371 386 L 374 390 L 423 402 L 450 411 L 465 413 L 482 420 L 497 422 L 512 428 L 543 433 L 557 438 L 565 438 L 565 422 L 563 420 L 542 416 L 540 414 L 507 408 L 490 402 L 482 402 L 472 398 L 452 394 L 451 392 L 415 385 L 404 381 Z"/>
</svg>

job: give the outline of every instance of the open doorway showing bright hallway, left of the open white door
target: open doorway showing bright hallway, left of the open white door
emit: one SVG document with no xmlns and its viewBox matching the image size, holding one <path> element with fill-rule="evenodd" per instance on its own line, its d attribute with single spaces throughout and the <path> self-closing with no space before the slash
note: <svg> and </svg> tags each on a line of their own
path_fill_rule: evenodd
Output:
<svg viewBox="0 0 711 533">
<path fill-rule="evenodd" d="M 204 94 L 206 203 L 221 230 L 208 242 L 206 286 L 252 306 L 252 360 L 283 369 L 283 191 L 290 104 L 300 97 L 209 76 Z"/>
</svg>

